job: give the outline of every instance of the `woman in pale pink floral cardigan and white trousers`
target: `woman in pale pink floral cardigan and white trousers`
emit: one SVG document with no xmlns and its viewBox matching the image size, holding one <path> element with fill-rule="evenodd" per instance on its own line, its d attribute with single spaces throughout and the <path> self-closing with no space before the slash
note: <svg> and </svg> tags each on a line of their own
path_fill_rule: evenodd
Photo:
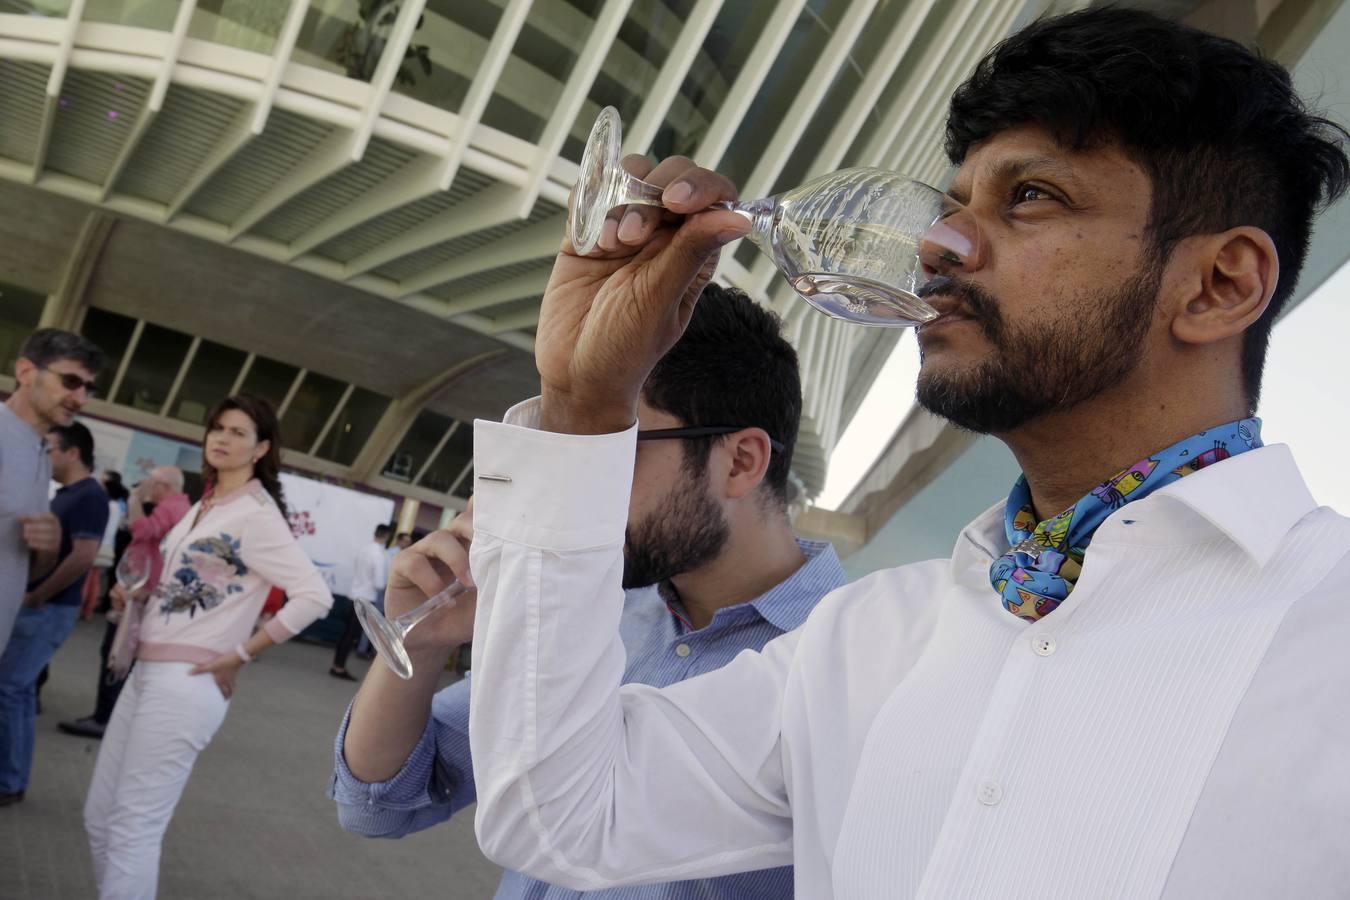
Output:
<svg viewBox="0 0 1350 900">
<path fill-rule="evenodd" d="M 162 544 L 165 573 L 146 600 L 138 664 L 85 801 L 103 900 L 155 896 L 165 828 L 197 754 L 225 718 L 239 669 L 332 606 L 286 524 L 275 413 L 236 395 L 207 422 L 208 490 Z M 252 633 L 273 584 L 290 602 Z M 113 602 L 124 603 L 119 592 Z"/>
</svg>

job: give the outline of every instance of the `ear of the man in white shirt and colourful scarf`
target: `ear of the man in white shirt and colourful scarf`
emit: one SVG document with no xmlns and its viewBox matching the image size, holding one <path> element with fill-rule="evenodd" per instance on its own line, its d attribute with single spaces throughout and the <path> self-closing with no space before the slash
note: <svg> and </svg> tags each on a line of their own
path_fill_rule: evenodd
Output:
<svg viewBox="0 0 1350 900">
<path fill-rule="evenodd" d="M 1172 336 L 1187 344 L 1214 344 L 1241 335 L 1261 318 L 1280 281 L 1280 256 L 1270 235 L 1239 225 L 1193 237 L 1181 248 L 1180 264 L 1192 266 L 1172 318 Z"/>
</svg>

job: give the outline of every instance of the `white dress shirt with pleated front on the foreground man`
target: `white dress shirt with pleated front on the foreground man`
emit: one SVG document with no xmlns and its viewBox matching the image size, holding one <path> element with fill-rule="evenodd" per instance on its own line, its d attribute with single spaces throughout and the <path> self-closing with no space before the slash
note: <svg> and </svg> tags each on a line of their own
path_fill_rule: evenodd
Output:
<svg viewBox="0 0 1350 900">
<path fill-rule="evenodd" d="M 509 421 L 529 421 L 522 405 Z M 634 432 L 478 422 L 471 727 L 497 862 L 575 888 L 1350 896 L 1350 521 L 1272 445 L 1123 506 L 1029 623 L 1002 505 L 664 690 L 620 687 Z"/>
</svg>

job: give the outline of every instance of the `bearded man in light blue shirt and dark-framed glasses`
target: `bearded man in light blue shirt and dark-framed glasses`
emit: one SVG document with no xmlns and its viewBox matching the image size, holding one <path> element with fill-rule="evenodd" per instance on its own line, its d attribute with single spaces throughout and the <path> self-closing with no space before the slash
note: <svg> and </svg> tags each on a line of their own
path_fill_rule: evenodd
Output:
<svg viewBox="0 0 1350 900">
<path fill-rule="evenodd" d="M 709 285 L 639 403 L 621 576 L 624 681 L 664 687 L 717 669 L 798 627 L 844 583 L 833 548 L 795 538 L 788 524 L 801 410 L 796 354 L 778 318 L 740 291 Z M 428 559 L 470 536 L 466 514 L 401 553 L 386 613 L 421 602 L 428 573 L 439 578 Z M 410 681 L 379 663 L 371 667 L 339 731 L 333 796 L 350 831 L 402 837 L 477 800 L 471 677 L 432 696 L 447 656 L 473 637 L 473 617 L 463 607 L 452 611 L 409 631 Z M 791 892 L 791 869 L 778 866 L 598 896 L 776 900 Z M 500 899 L 576 896 L 516 872 L 497 892 Z"/>
</svg>

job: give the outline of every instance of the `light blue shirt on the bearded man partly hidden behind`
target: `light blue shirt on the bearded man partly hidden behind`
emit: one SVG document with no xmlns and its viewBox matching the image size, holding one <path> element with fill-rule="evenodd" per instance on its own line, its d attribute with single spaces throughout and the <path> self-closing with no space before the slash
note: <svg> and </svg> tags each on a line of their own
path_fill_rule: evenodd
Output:
<svg viewBox="0 0 1350 900">
<path fill-rule="evenodd" d="M 786 582 L 748 603 L 718 610 L 713 621 L 691 630 L 678 604 L 667 606 L 656 588 L 628 591 L 620 633 L 628 650 L 624 683 L 667 687 L 730 663 L 741 650 L 760 650 L 774 638 L 801 626 L 826 594 L 844 584 L 834 548 L 798 540 L 806 563 Z M 347 710 L 351 716 L 351 710 Z M 343 719 L 333 746 L 329 796 L 348 831 L 373 838 L 401 838 L 429 828 L 473 804 L 473 760 L 468 752 L 468 681 L 440 691 L 432 718 L 402 770 L 389 781 L 369 784 L 347 769 L 342 746 Z M 710 897 L 764 899 L 792 896 L 792 869 L 761 869 L 720 878 L 649 884 L 579 893 L 508 872 L 497 900 L 702 900 Z"/>
</svg>

